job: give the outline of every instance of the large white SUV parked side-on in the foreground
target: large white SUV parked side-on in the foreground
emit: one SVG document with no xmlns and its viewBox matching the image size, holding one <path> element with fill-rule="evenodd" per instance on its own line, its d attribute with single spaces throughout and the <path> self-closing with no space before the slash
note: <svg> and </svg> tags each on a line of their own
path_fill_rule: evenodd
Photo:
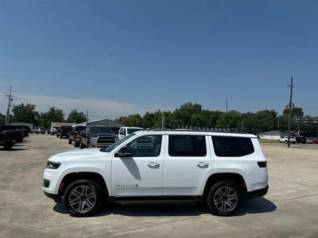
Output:
<svg viewBox="0 0 318 238">
<path fill-rule="evenodd" d="M 138 131 L 101 149 L 49 158 L 42 189 L 76 216 L 104 201 L 120 204 L 206 201 L 232 215 L 268 190 L 266 158 L 255 135 L 191 130 Z"/>
</svg>

